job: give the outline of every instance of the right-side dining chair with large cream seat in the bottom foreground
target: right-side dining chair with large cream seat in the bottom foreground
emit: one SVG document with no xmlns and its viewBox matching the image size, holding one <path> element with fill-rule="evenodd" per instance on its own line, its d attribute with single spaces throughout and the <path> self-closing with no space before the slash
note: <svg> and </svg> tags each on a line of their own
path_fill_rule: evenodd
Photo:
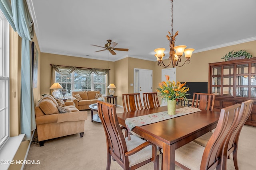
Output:
<svg viewBox="0 0 256 170">
<path fill-rule="evenodd" d="M 192 141 L 176 149 L 175 164 L 185 170 L 221 170 L 223 149 L 227 136 L 236 128 L 239 109 L 240 104 L 221 109 L 216 129 L 206 147 Z"/>
</svg>

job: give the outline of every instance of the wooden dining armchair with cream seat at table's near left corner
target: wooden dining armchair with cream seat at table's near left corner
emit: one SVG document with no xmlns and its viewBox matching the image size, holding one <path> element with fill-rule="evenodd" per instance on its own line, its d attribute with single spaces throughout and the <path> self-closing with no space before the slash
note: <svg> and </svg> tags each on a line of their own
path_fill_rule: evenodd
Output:
<svg viewBox="0 0 256 170">
<path fill-rule="evenodd" d="M 116 106 L 97 101 L 98 114 L 104 127 L 107 142 L 107 170 L 110 169 L 111 157 L 124 170 L 134 170 L 149 162 L 154 163 L 154 170 L 159 169 L 159 151 L 150 141 L 144 141 L 134 135 L 128 141 L 128 131 L 120 127 L 116 115 Z M 122 133 L 125 129 L 126 137 Z"/>
</svg>

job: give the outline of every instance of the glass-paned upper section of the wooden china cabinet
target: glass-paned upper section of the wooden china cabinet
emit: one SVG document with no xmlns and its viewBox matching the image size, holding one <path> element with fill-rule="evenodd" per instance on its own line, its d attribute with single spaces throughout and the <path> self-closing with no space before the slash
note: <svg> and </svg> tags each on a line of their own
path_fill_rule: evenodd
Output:
<svg viewBox="0 0 256 170">
<path fill-rule="evenodd" d="M 256 100 L 256 59 L 246 62 L 234 61 L 216 63 L 211 66 L 209 86 L 215 95 L 232 98 L 255 98 Z M 248 100 L 248 99 L 244 99 Z"/>
</svg>

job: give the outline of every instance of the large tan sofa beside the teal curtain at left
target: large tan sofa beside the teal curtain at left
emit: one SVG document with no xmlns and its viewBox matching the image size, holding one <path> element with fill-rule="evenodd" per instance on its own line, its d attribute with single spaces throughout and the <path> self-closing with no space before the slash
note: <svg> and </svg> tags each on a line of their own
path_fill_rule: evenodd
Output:
<svg viewBox="0 0 256 170">
<path fill-rule="evenodd" d="M 80 137 L 83 137 L 87 111 L 79 111 L 73 102 L 64 103 L 65 106 L 59 107 L 52 96 L 46 95 L 36 105 L 36 128 L 40 146 L 44 145 L 45 140 L 76 133 L 80 133 Z M 60 113 L 57 106 L 61 112 L 71 112 Z"/>
</svg>

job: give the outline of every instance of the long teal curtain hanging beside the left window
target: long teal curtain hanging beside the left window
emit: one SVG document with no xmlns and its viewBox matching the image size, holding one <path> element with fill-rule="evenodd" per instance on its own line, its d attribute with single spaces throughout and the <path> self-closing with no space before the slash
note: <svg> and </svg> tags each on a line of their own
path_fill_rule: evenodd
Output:
<svg viewBox="0 0 256 170">
<path fill-rule="evenodd" d="M 34 37 L 33 21 L 26 0 L 0 0 L 0 8 L 10 25 L 22 38 L 21 54 L 21 103 L 20 126 L 26 140 L 31 139 L 31 131 L 36 129 L 32 61 L 30 41 Z"/>
</svg>

